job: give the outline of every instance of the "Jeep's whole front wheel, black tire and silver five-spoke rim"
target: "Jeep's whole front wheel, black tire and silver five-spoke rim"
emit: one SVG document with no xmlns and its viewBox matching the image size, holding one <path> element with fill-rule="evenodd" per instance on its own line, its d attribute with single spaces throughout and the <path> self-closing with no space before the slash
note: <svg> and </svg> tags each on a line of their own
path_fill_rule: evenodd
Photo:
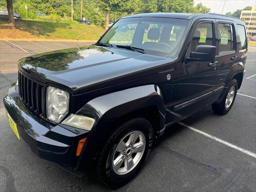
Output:
<svg viewBox="0 0 256 192">
<path fill-rule="evenodd" d="M 97 165 L 97 176 L 110 188 L 120 187 L 140 171 L 153 141 L 153 129 L 144 118 L 135 118 L 119 126 L 109 136 Z"/>
</svg>

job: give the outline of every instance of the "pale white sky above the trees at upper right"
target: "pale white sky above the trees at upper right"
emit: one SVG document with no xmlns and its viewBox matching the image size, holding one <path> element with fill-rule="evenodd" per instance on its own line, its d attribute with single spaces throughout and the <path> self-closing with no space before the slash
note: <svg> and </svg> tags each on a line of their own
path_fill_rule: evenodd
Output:
<svg viewBox="0 0 256 192">
<path fill-rule="evenodd" d="M 224 0 L 194 0 L 195 4 L 202 3 L 211 9 L 211 13 L 220 13 L 224 5 Z M 256 6 L 256 0 L 226 0 L 223 14 L 226 12 L 234 12 L 237 9 L 243 9 L 246 6 Z"/>
</svg>

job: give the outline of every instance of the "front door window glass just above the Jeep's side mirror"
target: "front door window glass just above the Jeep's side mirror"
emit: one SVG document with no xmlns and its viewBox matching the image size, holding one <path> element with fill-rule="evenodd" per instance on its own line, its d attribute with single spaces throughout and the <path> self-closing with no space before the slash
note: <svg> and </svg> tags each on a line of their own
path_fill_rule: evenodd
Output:
<svg viewBox="0 0 256 192">
<path fill-rule="evenodd" d="M 200 23 L 196 28 L 193 39 L 191 41 L 191 51 L 195 51 L 196 46 L 198 45 L 214 45 L 212 37 L 212 23 Z"/>
</svg>

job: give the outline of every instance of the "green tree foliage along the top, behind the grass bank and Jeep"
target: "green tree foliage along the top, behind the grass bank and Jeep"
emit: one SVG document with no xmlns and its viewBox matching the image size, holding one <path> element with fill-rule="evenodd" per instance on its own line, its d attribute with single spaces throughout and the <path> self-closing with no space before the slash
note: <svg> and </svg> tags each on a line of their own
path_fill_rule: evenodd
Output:
<svg viewBox="0 0 256 192">
<path fill-rule="evenodd" d="M 25 5 L 28 6 L 28 18 L 52 22 L 72 22 L 71 0 L 13 0 L 15 12 L 26 19 Z M 6 7 L 6 0 L 0 0 L 0 6 Z M 249 9 L 250 7 L 246 7 Z M 73 18 L 81 18 L 81 0 L 73 0 Z M 210 9 L 202 3 L 194 6 L 194 0 L 82 0 L 82 17 L 92 20 L 97 26 L 105 25 L 105 12 L 110 13 L 110 22 L 128 14 L 148 12 L 208 13 Z M 35 16 L 43 13 L 46 16 Z"/>
</svg>

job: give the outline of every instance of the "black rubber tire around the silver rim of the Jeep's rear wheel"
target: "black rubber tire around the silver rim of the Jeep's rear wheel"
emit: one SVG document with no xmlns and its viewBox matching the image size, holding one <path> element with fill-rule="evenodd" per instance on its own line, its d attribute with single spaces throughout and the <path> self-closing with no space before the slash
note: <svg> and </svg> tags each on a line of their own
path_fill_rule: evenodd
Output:
<svg viewBox="0 0 256 192">
<path fill-rule="evenodd" d="M 230 106 L 228 106 L 228 108 L 226 107 L 226 98 L 228 96 L 228 92 L 230 91 L 230 89 L 232 88 L 232 86 L 234 86 L 235 88 L 235 94 L 234 94 L 234 98 L 230 104 Z M 228 86 L 228 89 L 224 95 L 224 97 L 222 98 L 222 100 L 220 102 L 216 102 L 214 104 L 212 104 L 212 110 L 219 115 L 225 115 L 229 112 L 229 110 L 232 108 L 234 101 L 236 99 L 236 93 L 237 93 L 237 89 L 238 89 L 238 85 L 237 85 L 237 80 L 233 79 L 230 82 L 230 85 Z"/>
</svg>

